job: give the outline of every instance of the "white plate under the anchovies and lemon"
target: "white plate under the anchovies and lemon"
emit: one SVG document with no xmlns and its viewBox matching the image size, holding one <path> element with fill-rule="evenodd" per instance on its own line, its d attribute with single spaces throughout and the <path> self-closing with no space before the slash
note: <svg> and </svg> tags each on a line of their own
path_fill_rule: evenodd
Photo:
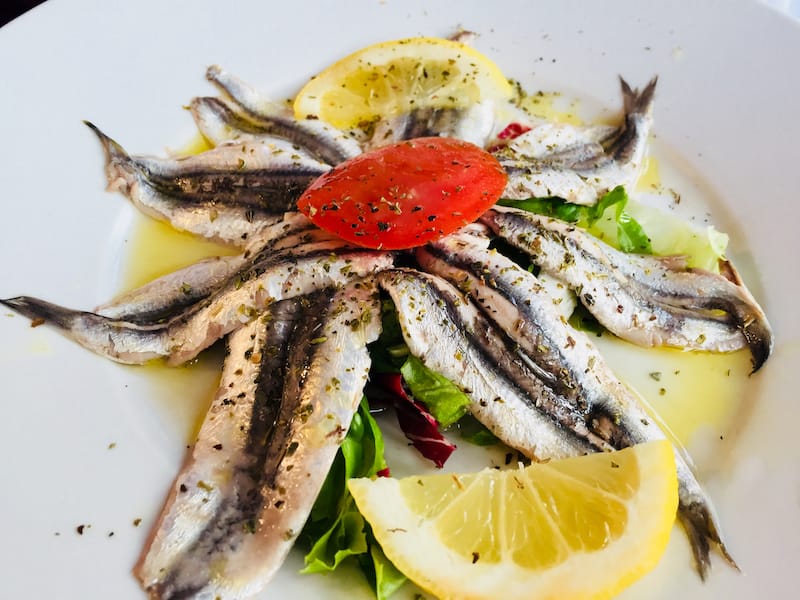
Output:
<svg viewBox="0 0 800 600">
<path fill-rule="evenodd" d="M 118 284 L 131 213 L 103 191 L 100 148 L 82 119 L 137 153 L 163 153 L 192 138 L 181 106 L 211 91 L 209 64 L 281 98 L 368 43 L 457 26 L 479 32 L 477 47 L 528 89 L 612 110 L 618 74 L 635 83 L 659 75 L 657 141 L 732 234 L 731 255 L 771 319 L 776 350 L 750 386 L 753 412 L 726 447 L 730 466 L 708 481 L 745 573 L 716 561 L 701 584 L 676 531 L 656 571 L 625 597 L 789 595 L 800 564 L 800 29 L 760 5 L 50 0 L 0 30 L 0 296 L 88 309 Z M 2 595 L 142 598 L 130 569 L 184 440 L 134 369 L 7 312 Z M 80 524 L 91 527 L 78 535 Z M 295 557 L 270 595 L 331 597 L 331 578 L 295 575 L 298 565 Z M 342 598 L 365 589 L 353 577 L 335 586 Z"/>
</svg>

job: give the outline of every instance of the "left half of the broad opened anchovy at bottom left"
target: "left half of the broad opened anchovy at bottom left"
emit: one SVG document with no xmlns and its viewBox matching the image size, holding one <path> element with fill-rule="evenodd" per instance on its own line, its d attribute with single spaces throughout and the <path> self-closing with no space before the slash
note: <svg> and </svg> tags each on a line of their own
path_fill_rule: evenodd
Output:
<svg viewBox="0 0 800 600">
<path fill-rule="evenodd" d="M 267 438 L 301 306 L 301 299 L 278 302 L 228 337 L 219 388 L 134 568 L 151 597 L 200 595 L 210 562 L 227 564 L 226 547 L 241 549 L 255 535 Z"/>
</svg>

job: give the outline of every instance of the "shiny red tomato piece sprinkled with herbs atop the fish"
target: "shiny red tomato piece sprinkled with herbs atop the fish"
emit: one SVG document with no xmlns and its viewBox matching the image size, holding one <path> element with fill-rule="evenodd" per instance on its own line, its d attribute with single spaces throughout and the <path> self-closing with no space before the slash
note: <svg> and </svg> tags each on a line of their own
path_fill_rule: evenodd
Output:
<svg viewBox="0 0 800 600">
<path fill-rule="evenodd" d="M 472 223 L 507 176 L 478 146 L 417 138 L 366 152 L 314 181 L 297 206 L 317 226 L 368 248 L 413 248 Z"/>
</svg>

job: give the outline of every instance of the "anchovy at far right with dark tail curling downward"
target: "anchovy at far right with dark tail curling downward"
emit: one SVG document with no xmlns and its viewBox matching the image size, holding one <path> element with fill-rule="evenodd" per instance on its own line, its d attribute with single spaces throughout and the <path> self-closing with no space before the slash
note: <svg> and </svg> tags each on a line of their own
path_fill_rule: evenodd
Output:
<svg viewBox="0 0 800 600">
<path fill-rule="evenodd" d="M 495 207 L 481 220 L 574 289 L 621 338 L 715 352 L 747 347 L 754 371 L 771 353 L 767 318 L 738 276 L 687 268 L 681 257 L 626 254 L 568 223 L 513 208 Z"/>
</svg>

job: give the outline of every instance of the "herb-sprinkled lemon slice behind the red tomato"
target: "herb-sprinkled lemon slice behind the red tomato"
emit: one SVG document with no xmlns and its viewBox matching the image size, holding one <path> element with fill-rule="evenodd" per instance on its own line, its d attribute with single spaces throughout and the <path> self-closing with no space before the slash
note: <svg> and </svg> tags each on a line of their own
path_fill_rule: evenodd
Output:
<svg viewBox="0 0 800 600">
<path fill-rule="evenodd" d="M 497 65 L 474 48 L 420 37 L 374 44 L 331 65 L 300 90 L 294 112 L 348 129 L 416 107 L 465 107 L 511 94 Z"/>
</svg>

